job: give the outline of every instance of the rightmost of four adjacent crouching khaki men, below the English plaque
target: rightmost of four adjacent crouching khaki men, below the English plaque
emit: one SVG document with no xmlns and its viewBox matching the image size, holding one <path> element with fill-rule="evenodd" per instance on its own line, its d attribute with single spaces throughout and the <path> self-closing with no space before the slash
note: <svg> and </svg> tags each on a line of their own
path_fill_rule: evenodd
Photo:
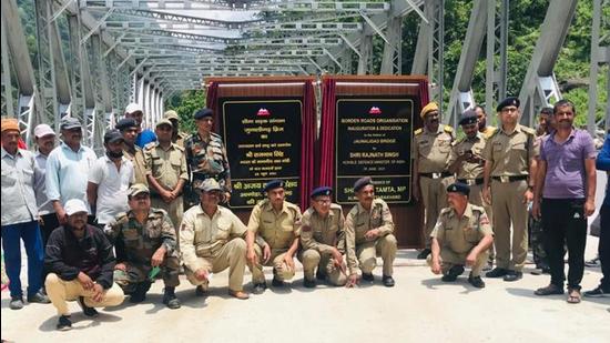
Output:
<svg viewBox="0 0 610 343">
<path fill-rule="evenodd" d="M 373 270 L 377 256 L 384 261 L 382 281 L 385 286 L 394 286 L 394 259 L 397 242 L 394 236 L 394 221 L 387 203 L 375 199 L 375 186 L 370 178 L 358 179 L 354 183 L 354 193 L 358 203 L 352 208 L 345 219 L 345 245 L 347 246 L 348 284 L 355 280 L 355 268 L 359 264 L 364 281 L 374 281 Z"/>
</svg>

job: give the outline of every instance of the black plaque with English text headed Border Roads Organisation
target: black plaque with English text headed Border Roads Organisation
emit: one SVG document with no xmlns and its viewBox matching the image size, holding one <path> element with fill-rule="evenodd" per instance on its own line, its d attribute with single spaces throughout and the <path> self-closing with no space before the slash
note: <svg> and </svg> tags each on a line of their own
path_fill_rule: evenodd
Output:
<svg viewBox="0 0 610 343">
<path fill-rule="evenodd" d="M 339 204 L 356 203 L 353 184 L 372 176 L 375 194 L 387 203 L 410 201 L 409 97 L 338 98 L 335 123 L 335 184 Z"/>
</svg>

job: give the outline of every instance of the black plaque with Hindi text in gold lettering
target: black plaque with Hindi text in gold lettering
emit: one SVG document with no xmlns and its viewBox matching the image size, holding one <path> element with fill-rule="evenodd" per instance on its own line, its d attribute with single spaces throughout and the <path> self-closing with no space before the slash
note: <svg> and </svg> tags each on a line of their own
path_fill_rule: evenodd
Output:
<svg viewBox="0 0 610 343">
<path fill-rule="evenodd" d="M 272 179 L 286 182 L 286 200 L 299 202 L 301 99 L 220 99 L 231 167 L 231 206 L 252 208 Z"/>
</svg>

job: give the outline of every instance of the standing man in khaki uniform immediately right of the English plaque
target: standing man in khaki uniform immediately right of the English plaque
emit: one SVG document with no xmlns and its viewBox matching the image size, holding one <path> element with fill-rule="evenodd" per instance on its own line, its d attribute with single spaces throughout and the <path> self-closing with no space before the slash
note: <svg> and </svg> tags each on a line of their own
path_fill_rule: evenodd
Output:
<svg viewBox="0 0 610 343">
<path fill-rule="evenodd" d="M 426 209 L 426 236 L 436 224 L 438 213 L 447 206 L 445 189 L 454 182 L 453 174 L 447 170 L 447 160 L 451 152 L 454 129 L 439 124 L 438 105 L 428 103 L 421 113 L 424 128 L 415 131 L 413 152 L 415 171 L 413 176 L 413 195 L 419 201 L 421 195 Z M 430 253 L 429 241 L 417 259 L 424 260 Z"/>
</svg>

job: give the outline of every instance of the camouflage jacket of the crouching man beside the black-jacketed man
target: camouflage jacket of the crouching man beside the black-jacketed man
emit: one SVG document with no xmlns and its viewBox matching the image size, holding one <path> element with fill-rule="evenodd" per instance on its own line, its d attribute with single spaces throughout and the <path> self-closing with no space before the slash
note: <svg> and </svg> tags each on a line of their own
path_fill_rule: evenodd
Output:
<svg viewBox="0 0 610 343">
<path fill-rule="evenodd" d="M 151 269 L 151 258 L 161 246 L 165 255 L 173 255 L 176 235 L 167 212 L 150 209 L 144 224 L 141 224 L 132 211 L 120 213 L 104 226 L 104 233 L 116 251 L 116 262 L 128 262 L 146 273 Z M 120 244 L 118 244 L 120 242 Z"/>
</svg>

